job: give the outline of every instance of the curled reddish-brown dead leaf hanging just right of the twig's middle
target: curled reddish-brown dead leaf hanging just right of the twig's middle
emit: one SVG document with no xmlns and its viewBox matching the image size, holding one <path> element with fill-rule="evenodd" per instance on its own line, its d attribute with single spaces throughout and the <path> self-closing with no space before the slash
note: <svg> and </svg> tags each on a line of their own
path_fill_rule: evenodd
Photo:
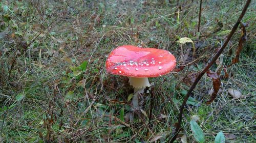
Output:
<svg viewBox="0 0 256 143">
<path fill-rule="evenodd" d="M 216 98 L 218 91 L 221 86 L 221 79 L 216 72 L 212 72 L 210 70 L 206 71 L 207 76 L 212 79 L 212 84 L 214 85 L 214 93 L 212 93 L 210 100 L 206 102 L 206 104 L 210 104 Z"/>
</svg>

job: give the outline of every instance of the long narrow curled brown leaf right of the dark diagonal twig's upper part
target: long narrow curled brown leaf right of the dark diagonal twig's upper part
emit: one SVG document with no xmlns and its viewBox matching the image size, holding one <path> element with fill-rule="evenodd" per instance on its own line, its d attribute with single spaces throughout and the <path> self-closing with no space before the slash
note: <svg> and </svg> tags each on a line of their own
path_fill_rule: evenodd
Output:
<svg viewBox="0 0 256 143">
<path fill-rule="evenodd" d="M 232 59 L 231 65 L 239 62 L 239 55 L 243 49 L 243 43 L 246 41 L 246 29 L 245 29 L 246 23 L 241 22 L 240 25 L 242 28 L 242 33 L 241 33 L 242 36 L 240 37 L 239 42 L 238 42 L 238 49 L 237 49 L 236 57 L 234 59 Z M 229 67 L 231 65 L 229 65 Z"/>
</svg>

